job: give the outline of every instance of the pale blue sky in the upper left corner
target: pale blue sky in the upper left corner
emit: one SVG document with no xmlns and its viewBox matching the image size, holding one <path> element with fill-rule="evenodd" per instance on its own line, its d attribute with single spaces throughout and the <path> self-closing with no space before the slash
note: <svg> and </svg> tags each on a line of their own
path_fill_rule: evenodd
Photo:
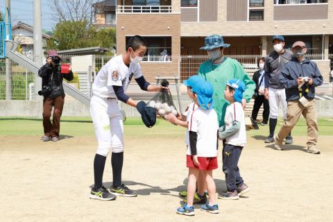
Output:
<svg viewBox="0 0 333 222">
<path fill-rule="evenodd" d="M 52 31 L 56 26 L 56 19 L 52 16 L 52 10 L 49 2 L 52 0 L 41 0 L 42 4 L 42 28 L 47 31 Z M 1 13 L 5 8 L 5 0 L 0 0 Z M 10 11 L 12 26 L 21 21 L 33 26 L 33 0 L 11 0 Z"/>
</svg>

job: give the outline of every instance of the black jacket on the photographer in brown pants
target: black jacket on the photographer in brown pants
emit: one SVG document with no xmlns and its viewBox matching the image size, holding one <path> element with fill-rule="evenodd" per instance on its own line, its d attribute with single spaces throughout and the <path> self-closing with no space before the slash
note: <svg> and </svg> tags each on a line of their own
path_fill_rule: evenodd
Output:
<svg viewBox="0 0 333 222">
<path fill-rule="evenodd" d="M 46 98 L 56 98 L 65 94 L 64 88 L 62 87 L 62 78 L 69 81 L 73 80 L 73 72 L 69 74 L 60 73 L 60 65 L 53 67 L 51 64 L 46 63 L 38 71 L 38 76 L 42 77 L 42 88 L 49 86 L 51 93 L 47 94 Z"/>
</svg>

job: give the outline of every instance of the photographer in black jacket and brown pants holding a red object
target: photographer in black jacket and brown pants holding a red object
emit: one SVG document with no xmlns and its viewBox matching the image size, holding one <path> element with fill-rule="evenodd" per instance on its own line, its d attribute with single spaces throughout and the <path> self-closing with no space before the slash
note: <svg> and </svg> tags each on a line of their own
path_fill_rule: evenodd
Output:
<svg viewBox="0 0 333 222">
<path fill-rule="evenodd" d="M 43 100 L 43 141 L 59 140 L 60 117 L 65 102 L 65 92 L 62 87 L 62 78 L 73 80 L 73 72 L 70 67 L 62 67 L 60 65 L 60 56 L 57 51 L 51 50 L 46 58 L 46 64 L 38 71 L 38 76 L 42 77 L 42 90 L 38 92 L 40 96 L 44 96 Z M 52 123 L 51 110 L 53 110 Z"/>
</svg>

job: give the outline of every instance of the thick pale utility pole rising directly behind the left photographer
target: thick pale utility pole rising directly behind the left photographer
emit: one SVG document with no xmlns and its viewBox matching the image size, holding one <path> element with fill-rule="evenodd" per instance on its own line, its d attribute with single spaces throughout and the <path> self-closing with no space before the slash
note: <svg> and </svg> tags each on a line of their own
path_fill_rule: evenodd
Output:
<svg viewBox="0 0 333 222">
<path fill-rule="evenodd" d="M 42 47 L 42 11 L 40 0 L 33 0 L 33 61 L 37 65 L 43 65 L 43 47 Z M 42 79 L 34 74 L 34 99 L 42 99 L 37 94 L 42 89 Z"/>
</svg>

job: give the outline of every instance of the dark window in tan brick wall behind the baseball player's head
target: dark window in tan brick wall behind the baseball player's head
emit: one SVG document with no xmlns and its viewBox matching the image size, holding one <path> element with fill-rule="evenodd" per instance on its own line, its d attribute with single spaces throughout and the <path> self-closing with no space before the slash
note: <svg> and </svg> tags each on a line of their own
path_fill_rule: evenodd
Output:
<svg viewBox="0 0 333 222">
<path fill-rule="evenodd" d="M 126 36 L 126 45 L 131 36 Z M 171 61 L 171 36 L 143 36 L 148 43 L 144 61 L 146 62 L 168 62 Z"/>
</svg>

